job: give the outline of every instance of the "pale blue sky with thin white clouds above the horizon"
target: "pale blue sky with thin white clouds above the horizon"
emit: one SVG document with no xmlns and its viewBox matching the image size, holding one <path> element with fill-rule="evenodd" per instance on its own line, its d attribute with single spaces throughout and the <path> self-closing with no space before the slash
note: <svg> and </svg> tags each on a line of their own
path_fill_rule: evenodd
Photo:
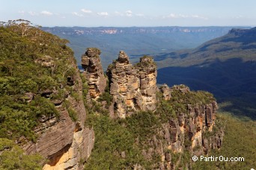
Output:
<svg viewBox="0 0 256 170">
<path fill-rule="evenodd" d="M 0 0 L 0 21 L 41 26 L 256 26 L 255 0 Z"/>
</svg>

